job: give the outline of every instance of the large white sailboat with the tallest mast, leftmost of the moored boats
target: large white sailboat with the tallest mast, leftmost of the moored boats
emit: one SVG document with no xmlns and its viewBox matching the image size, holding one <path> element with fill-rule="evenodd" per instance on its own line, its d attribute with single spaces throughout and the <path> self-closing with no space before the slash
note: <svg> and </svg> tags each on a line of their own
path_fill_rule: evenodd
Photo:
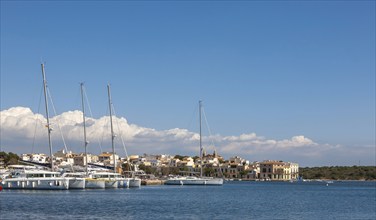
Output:
<svg viewBox="0 0 376 220">
<path fill-rule="evenodd" d="M 42 76 L 43 76 L 43 91 L 44 100 L 46 107 L 46 118 L 47 118 L 47 130 L 48 130 L 48 146 L 50 150 L 51 157 L 51 171 L 41 170 L 41 169 L 15 169 L 11 171 L 10 175 L 3 179 L 0 185 L 4 189 L 69 189 L 69 180 L 65 177 L 60 176 L 59 172 L 54 172 L 54 162 L 52 155 L 52 144 L 51 144 L 51 128 L 50 128 L 50 118 L 48 111 L 48 101 L 47 101 L 47 80 L 44 73 L 44 64 L 41 64 Z"/>
</svg>

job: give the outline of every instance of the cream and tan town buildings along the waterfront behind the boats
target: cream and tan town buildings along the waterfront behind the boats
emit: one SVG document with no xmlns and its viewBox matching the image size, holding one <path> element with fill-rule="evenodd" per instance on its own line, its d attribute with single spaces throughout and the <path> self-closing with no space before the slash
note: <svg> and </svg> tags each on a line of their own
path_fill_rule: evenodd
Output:
<svg viewBox="0 0 376 220">
<path fill-rule="evenodd" d="M 0 158 L 0 169 L 4 168 L 3 161 L 4 159 Z M 43 153 L 21 154 L 19 161 L 24 164 L 48 166 L 50 157 Z M 212 154 L 203 151 L 202 161 L 198 156 L 165 154 L 130 155 L 127 158 L 121 158 L 112 152 L 103 152 L 99 155 L 88 154 L 86 157 L 84 153 L 77 154 L 66 150 L 60 150 L 53 155 L 54 167 L 61 171 L 71 171 L 72 169 L 82 171 L 86 165 L 93 169 L 113 169 L 114 161 L 117 173 L 125 176 L 136 173 L 142 179 L 198 176 L 201 166 L 203 176 L 226 180 L 291 181 L 299 178 L 299 165 L 297 163 L 276 160 L 250 162 L 239 156 L 233 156 L 226 160 L 216 151 Z"/>
</svg>

